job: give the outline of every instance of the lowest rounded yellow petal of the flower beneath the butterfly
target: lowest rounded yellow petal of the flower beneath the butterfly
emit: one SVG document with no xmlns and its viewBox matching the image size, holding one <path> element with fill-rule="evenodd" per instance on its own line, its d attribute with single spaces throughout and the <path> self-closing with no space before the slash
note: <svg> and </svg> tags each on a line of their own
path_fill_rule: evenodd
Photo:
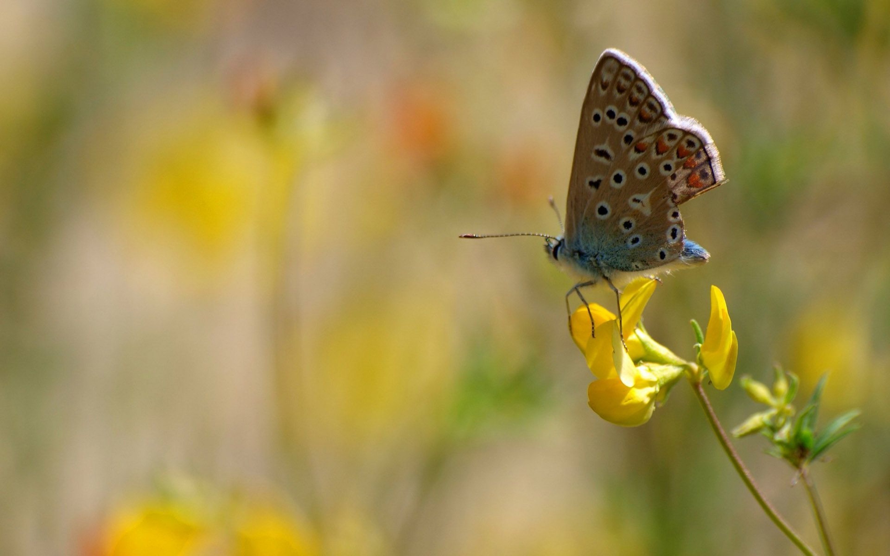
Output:
<svg viewBox="0 0 890 556">
<path fill-rule="evenodd" d="M 587 387 L 587 404 L 610 423 L 635 427 L 646 423 L 655 409 L 658 387 L 627 388 L 619 378 L 598 380 Z"/>
</svg>

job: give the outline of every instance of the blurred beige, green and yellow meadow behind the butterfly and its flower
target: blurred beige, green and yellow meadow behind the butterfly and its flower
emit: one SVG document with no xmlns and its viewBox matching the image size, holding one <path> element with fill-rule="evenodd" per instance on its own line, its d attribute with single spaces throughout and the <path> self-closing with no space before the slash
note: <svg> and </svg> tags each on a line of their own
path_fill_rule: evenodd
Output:
<svg viewBox="0 0 890 556">
<path fill-rule="evenodd" d="M 683 384 L 635 429 L 587 407 L 537 238 L 457 239 L 558 231 L 610 46 L 729 177 L 647 327 L 692 357 L 716 284 L 737 375 L 828 371 L 864 426 L 814 478 L 840 552 L 886 553 L 887 0 L 0 3 L 0 553 L 795 553 Z"/>
</svg>

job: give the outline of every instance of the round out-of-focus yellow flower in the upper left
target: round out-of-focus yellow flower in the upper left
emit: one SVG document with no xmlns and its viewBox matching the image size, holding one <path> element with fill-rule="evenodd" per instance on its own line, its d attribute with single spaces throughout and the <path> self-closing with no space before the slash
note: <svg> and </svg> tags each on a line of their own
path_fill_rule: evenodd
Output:
<svg viewBox="0 0 890 556">
<path fill-rule="evenodd" d="M 245 241 L 257 197 L 270 189 L 271 157 L 260 138 L 222 109 L 171 125 L 145 149 L 134 181 L 142 238 L 205 262 Z"/>
</svg>

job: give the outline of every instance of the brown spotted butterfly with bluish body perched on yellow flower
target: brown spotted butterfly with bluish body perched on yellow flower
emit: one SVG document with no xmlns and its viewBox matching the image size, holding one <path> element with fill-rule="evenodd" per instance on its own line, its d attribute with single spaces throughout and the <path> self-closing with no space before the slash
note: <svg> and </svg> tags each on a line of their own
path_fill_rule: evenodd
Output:
<svg viewBox="0 0 890 556">
<path fill-rule="evenodd" d="M 588 305 L 582 287 L 604 283 L 618 297 L 634 278 L 708 262 L 710 254 L 686 238 L 678 207 L 725 181 L 708 131 L 677 115 L 639 62 L 610 48 L 596 62 L 581 106 L 562 236 L 461 238 L 545 238 L 548 257 L 576 280 L 565 294 L 571 312 L 572 293 Z M 559 218 L 553 198 L 550 204 Z M 589 307 L 587 313 L 593 328 Z"/>
</svg>

